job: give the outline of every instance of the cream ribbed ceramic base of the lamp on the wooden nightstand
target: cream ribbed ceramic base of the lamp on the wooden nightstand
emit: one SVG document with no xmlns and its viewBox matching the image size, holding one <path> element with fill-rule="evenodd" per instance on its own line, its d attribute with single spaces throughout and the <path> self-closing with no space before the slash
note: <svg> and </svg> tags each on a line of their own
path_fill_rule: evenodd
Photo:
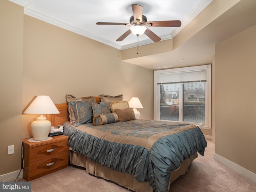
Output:
<svg viewBox="0 0 256 192">
<path fill-rule="evenodd" d="M 37 117 L 36 121 L 31 123 L 33 139 L 36 141 L 46 140 L 50 133 L 51 125 L 51 122 L 46 120 L 43 115 Z"/>
</svg>

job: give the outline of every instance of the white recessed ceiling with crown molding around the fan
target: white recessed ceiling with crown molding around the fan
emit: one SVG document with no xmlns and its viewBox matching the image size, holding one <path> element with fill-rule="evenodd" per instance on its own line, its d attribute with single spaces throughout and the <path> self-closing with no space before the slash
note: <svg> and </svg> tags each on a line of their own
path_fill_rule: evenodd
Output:
<svg viewBox="0 0 256 192">
<path fill-rule="evenodd" d="M 24 14 L 124 50 L 137 46 L 137 36 L 130 34 L 117 42 L 130 26 L 96 25 L 96 22 L 129 23 L 132 4 L 143 6 L 148 21 L 180 20 L 182 26 L 150 27 L 162 40 L 175 36 L 212 0 L 13 0 L 24 6 Z M 153 43 L 145 34 L 140 45 Z"/>
</svg>

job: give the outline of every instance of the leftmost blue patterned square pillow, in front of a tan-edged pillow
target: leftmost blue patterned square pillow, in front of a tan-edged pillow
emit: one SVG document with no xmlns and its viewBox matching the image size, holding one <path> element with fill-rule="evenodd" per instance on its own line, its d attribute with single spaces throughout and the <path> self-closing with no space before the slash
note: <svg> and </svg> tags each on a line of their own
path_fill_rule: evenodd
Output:
<svg viewBox="0 0 256 192">
<path fill-rule="evenodd" d="M 76 117 L 74 126 L 85 123 L 91 123 L 93 120 L 92 102 L 90 101 L 72 101 L 68 105 L 72 105 Z"/>
</svg>

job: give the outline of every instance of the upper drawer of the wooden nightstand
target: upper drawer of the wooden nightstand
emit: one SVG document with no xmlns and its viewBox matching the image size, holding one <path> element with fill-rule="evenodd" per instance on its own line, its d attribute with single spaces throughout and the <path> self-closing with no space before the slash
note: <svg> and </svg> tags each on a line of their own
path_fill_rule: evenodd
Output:
<svg viewBox="0 0 256 192">
<path fill-rule="evenodd" d="M 30 148 L 28 159 L 29 162 L 34 162 L 65 151 L 68 151 L 68 140 L 32 147 Z"/>
</svg>

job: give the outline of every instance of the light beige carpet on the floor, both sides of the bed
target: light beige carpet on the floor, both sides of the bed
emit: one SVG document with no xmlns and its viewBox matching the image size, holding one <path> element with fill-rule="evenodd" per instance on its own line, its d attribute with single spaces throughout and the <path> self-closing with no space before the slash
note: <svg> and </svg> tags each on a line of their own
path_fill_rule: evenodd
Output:
<svg viewBox="0 0 256 192">
<path fill-rule="evenodd" d="M 204 156 L 192 162 L 189 171 L 175 180 L 169 192 L 255 192 L 256 184 L 213 159 L 211 141 Z M 25 181 L 23 178 L 20 181 Z M 31 181 L 32 192 L 131 192 L 110 181 L 96 178 L 84 168 L 68 168 Z"/>
</svg>

